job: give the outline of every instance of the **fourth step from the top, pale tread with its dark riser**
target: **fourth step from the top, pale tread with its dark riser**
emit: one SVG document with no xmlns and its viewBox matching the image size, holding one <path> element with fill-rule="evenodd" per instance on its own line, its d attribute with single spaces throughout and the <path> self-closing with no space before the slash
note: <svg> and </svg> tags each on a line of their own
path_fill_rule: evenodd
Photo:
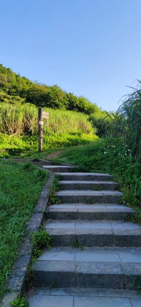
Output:
<svg viewBox="0 0 141 307">
<path fill-rule="evenodd" d="M 122 193 L 112 190 L 63 190 L 56 193 L 62 203 L 119 203 Z"/>
</svg>

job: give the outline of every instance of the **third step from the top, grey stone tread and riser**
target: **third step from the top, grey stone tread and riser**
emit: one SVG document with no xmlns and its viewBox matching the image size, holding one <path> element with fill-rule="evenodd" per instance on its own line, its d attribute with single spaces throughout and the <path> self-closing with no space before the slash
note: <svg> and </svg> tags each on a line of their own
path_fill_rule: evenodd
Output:
<svg viewBox="0 0 141 307">
<path fill-rule="evenodd" d="M 113 181 L 60 180 L 59 184 L 64 190 L 115 190 L 118 187 Z"/>
</svg>

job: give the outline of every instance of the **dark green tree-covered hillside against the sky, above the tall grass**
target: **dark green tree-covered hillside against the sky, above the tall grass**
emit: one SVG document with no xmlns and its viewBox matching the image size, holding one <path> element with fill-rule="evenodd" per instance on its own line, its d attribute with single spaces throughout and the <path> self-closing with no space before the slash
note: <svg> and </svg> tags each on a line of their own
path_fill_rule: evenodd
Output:
<svg viewBox="0 0 141 307">
<path fill-rule="evenodd" d="M 58 85 L 48 86 L 32 82 L 26 77 L 12 72 L 0 64 L 0 102 L 13 104 L 30 102 L 36 106 L 66 109 L 87 115 L 100 112 L 97 104 L 92 104 L 83 96 L 63 91 Z"/>
</svg>

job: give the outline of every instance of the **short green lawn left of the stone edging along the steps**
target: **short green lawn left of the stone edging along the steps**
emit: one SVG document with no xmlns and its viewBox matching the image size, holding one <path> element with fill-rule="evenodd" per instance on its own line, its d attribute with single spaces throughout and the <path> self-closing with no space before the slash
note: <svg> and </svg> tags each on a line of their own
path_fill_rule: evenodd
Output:
<svg viewBox="0 0 141 307">
<path fill-rule="evenodd" d="M 0 161 L 0 297 L 48 176 L 31 163 Z"/>
</svg>

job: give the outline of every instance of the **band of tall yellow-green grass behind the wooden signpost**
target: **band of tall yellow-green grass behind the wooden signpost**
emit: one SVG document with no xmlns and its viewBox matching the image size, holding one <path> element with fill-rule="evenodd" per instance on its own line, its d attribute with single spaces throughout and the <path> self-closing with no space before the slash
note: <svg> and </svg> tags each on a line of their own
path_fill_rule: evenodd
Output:
<svg viewBox="0 0 141 307">
<path fill-rule="evenodd" d="M 82 133 L 93 134 L 88 116 L 73 111 L 44 108 L 49 112 L 49 120 L 44 120 L 44 133 Z M 21 106 L 0 104 L 0 133 L 8 135 L 36 134 L 38 131 L 38 108 L 32 104 Z"/>
</svg>

